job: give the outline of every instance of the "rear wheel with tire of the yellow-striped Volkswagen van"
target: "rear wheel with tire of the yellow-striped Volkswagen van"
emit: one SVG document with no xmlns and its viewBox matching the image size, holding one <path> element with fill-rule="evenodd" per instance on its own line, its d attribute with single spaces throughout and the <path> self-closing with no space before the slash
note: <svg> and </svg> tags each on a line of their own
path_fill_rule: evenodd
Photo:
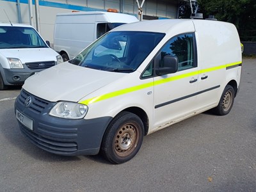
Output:
<svg viewBox="0 0 256 192">
<path fill-rule="evenodd" d="M 225 87 L 218 106 L 213 109 L 216 115 L 227 115 L 234 104 L 235 91 L 229 84 Z"/>
</svg>

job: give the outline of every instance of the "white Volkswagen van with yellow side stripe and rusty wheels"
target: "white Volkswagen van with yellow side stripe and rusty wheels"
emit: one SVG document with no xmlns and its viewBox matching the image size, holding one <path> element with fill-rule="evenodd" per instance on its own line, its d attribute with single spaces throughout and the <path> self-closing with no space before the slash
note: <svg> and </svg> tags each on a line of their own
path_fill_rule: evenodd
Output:
<svg viewBox="0 0 256 192">
<path fill-rule="evenodd" d="M 112 163 L 124 163 L 147 134 L 209 109 L 227 115 L 241 65 L 233 24 L 125 24 L 73 60 L 29 77 L 15 113 L 21 132 L 48 152 L 78 156 L 101 150 Z"/>
</svg>

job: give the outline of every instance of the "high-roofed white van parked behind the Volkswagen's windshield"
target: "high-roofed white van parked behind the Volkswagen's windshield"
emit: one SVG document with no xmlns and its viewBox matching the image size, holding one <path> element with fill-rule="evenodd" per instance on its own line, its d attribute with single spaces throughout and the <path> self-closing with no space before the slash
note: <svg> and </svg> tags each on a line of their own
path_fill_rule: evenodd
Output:
<svg viewBox="0 0 256 192">
<path fill-rule="evenodd" d="M 54 28 L 54 50 L 67 61 L 110 29 L 130 22 L 138 19 L 113 12 L 59 13 Z"/>
</svg>

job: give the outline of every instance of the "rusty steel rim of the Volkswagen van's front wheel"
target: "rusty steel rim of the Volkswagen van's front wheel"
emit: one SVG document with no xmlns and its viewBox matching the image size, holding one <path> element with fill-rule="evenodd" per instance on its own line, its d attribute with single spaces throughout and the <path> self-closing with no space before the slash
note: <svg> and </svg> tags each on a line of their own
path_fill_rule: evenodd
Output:
<svg viewBox="0 0 256 192">
<path fill-rule="evenodd" d="M 114 149 L 118 156 L 128 156 L 134 151 L 138 144 L 138 126 L 135 124 L 125 124 L 115 135 Z"/>
</svg>

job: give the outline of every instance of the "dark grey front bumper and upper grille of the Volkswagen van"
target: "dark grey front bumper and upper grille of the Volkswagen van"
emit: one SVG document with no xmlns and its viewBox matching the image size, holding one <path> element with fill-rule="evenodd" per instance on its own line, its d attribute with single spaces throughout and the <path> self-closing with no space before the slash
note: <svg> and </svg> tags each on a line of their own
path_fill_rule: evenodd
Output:
<svg viewBox="0 0 256 192">
<path fill-rule="evenodd" d="M 31 104 L 26 107 L 26 98 Z M 94 155 L 99 153 L 100 143 L 111 117 L 70 120 L 48 115 L 56 102 L 40 99 L 22 90 L 15 100 L 15 113 L 33 120 L 33 131 L 19 121 L 19 127 L 29 141 L 36 146 L 65 156 Z"/>
</svg>

